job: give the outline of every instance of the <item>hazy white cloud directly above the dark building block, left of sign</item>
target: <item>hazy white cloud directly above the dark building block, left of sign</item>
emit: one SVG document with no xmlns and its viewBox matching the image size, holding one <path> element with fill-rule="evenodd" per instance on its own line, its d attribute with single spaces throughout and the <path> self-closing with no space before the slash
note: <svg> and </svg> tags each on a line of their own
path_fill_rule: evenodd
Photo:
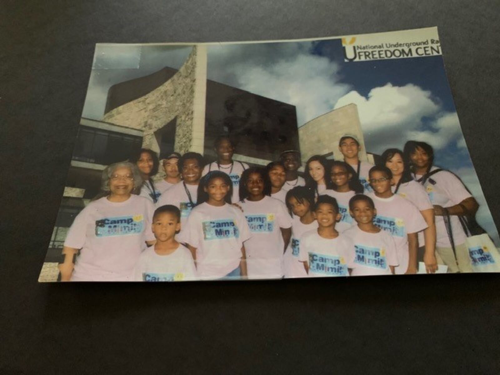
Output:
<svg viewBox="0 0 500 375">
<path fill-rule="evenodd" d="M 302 125 L 333 109 L 349 89 L 339 82 L 339 65 L 311 48 L 311 42 L 210 46 L 208 78 L 295 105 Z"/>
</svg>

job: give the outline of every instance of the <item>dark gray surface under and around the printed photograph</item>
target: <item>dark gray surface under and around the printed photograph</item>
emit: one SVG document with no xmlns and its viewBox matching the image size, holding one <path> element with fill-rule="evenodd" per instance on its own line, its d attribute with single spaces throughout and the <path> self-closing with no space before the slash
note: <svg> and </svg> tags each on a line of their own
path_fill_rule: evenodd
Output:
<svg viewBox="0 0 500 375">
<path fill-rule="evenodd" d="M 497 275 L 36 282 L 96 42 L 437 25 L 465 139 L 500 222 L 498 14 L 497 1 L 2 1 L 0 372 L 498 373 Z"/>
</svg>

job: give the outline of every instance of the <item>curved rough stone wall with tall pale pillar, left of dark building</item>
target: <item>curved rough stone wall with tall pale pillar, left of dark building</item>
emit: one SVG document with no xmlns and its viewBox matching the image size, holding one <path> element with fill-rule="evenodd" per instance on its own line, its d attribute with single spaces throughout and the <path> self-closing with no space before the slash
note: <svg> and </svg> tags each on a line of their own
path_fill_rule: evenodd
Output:
<svg viewBox="0 0 500 375">
<path fill-rule="evenodd" d="M 154 132 L 175 116 L 175 151 L 203 153 L 206 47 L 193 46 L 184 64 L 151 92 L 104 114 L 103 121 L 143 130 L 142 146 L 159 152 Z"/>
</svg>

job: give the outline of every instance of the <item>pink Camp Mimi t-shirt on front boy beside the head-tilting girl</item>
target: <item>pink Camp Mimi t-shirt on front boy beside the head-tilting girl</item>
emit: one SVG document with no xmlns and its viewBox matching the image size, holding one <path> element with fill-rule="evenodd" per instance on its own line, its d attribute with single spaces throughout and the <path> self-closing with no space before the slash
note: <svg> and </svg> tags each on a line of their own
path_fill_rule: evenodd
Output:
<svg viewBox="0 0 500 375">
<path fill-rule="evenodd" d="M 323 238 L 314 229 L 300 237 L 298 257 L 309 264 L 309 277 L 348 276 L 347 268 L 355 266 L 353 248 L 352 240 L 343 234 Z"/>
</svg>

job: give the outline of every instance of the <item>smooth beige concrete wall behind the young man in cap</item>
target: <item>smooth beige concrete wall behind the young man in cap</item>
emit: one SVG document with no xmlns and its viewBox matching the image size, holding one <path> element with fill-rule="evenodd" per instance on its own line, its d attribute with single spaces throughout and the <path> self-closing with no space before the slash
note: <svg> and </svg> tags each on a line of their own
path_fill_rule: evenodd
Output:
<svg viewBox="0 0 500 375">
<path fill-rule="evenodd" d="M 312 155 L 328 152 L 333 152 L 335 160 L 342 160 L 338 141 L 345 134 L 354 135 L 358 139 L 361 145 L 359 159 L 367 160 L 357 106 L 348 104 L 322 114 L 298 128 L 302 161 L 305 162 Z"/>
</svg>

